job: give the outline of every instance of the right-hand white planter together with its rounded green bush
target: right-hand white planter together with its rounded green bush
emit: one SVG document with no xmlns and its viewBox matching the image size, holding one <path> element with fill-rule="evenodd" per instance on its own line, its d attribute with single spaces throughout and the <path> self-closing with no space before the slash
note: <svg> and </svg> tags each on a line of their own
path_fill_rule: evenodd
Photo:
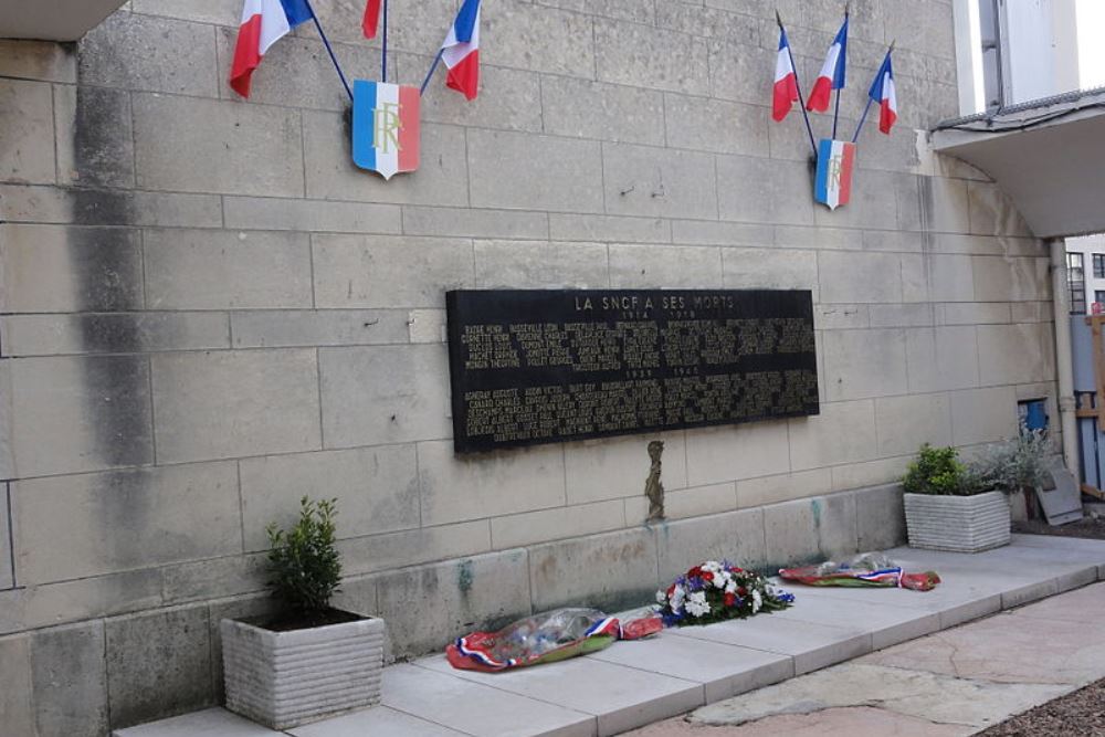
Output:
<svg viewBox="0 0 1105 737">
<path fill-rule="evenodd" d="M 922 445 L 902 485 L 911 547 L 979 552 L 1009 545 L 1009 499 L 955 448 Z"/>
</svg>

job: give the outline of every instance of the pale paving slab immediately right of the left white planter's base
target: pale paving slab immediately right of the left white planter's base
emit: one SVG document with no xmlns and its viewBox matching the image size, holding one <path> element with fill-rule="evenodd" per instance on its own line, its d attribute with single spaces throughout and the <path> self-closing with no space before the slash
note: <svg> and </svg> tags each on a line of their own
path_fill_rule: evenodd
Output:
<svg viewBox="0 0 1105 737">
<path fill-rule="evenodd" d="M 596 734 L 596 718 L 589 714 L 414 665 L 388 668 L 382 698 L 385 706 L 480 737 L 516 729 L 518 724 L 552 737 Z"/>
</svg>

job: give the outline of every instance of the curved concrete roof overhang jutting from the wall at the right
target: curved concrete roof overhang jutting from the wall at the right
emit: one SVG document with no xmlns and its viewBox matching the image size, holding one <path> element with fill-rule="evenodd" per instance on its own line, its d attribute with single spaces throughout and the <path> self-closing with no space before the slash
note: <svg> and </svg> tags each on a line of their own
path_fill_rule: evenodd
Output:
<svg viewBox="0 0 1105 737">
<path fill-rule="evenodd" d="M 989 175 L 1036 236 L 1105 232 L 1105 88 L 948 120 L 933 146 Z"/>
</svg>

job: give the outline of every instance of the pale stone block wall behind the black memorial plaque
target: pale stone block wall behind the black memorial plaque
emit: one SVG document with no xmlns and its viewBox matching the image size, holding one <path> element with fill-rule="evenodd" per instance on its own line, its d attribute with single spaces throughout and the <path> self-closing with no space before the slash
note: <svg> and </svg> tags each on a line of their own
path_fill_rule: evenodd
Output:
<svg viewBox="0 0 1105 737">
<path fill-rule="evenodd" d="M 315 4 L 346 71 L 376 78 L 361 0 Z M 263 528 L 303 494 L 338 498 L 343 603 L 402 654 L 635 601 L 704 555 L 892 545 L 896 491 L 849 489 L 923 441 L 1011 434 L 1018 399 L 1053 407 L 1046 252 L 916 130 L 957 112 L 949 3 L 852 3 L 841 129 L 892 39 L 902 122 L 869 126 L 835 212 L 812 203 L 797 110 L 770 122 L 776 3 L 483 4 L 480 98 L 435 80 L 422 167 L 387 183 L 350 161 L 311 28 L 235 98 L 240 0 L 131 0 L 76 45 L 0 41 L 12 734 L 215 703 L 218 619 L 267 606 Z M 809 85 L 840 3 L 779 4 Z M 401 82 L 454 11 L 392 3 Z M 651 436 L 454 457 L 444 292 L 495 286 L 811 288 L 822 414 L 663 435 L 674 522 L 654 528 Z"/>
</svg>

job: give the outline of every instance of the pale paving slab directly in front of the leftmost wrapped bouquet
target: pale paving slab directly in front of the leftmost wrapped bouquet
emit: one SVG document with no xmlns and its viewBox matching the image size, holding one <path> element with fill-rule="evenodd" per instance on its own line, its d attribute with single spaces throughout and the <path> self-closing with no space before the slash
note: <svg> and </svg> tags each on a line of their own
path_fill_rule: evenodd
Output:
<svg viewBox="0 0 1105 737">
<path fill-rule="evenodd" d="M 456 672 L 441 655 L 419 661 L 418 665 L 530 698 L 547 698 L 555 692 L 559 705 L 596 715 L 600 737 L 682 714 L 704 703 L 699 683 L 590 657 L 565 661 L 555 670 L 532 667 L 509 673 Z"/>
</svg>

